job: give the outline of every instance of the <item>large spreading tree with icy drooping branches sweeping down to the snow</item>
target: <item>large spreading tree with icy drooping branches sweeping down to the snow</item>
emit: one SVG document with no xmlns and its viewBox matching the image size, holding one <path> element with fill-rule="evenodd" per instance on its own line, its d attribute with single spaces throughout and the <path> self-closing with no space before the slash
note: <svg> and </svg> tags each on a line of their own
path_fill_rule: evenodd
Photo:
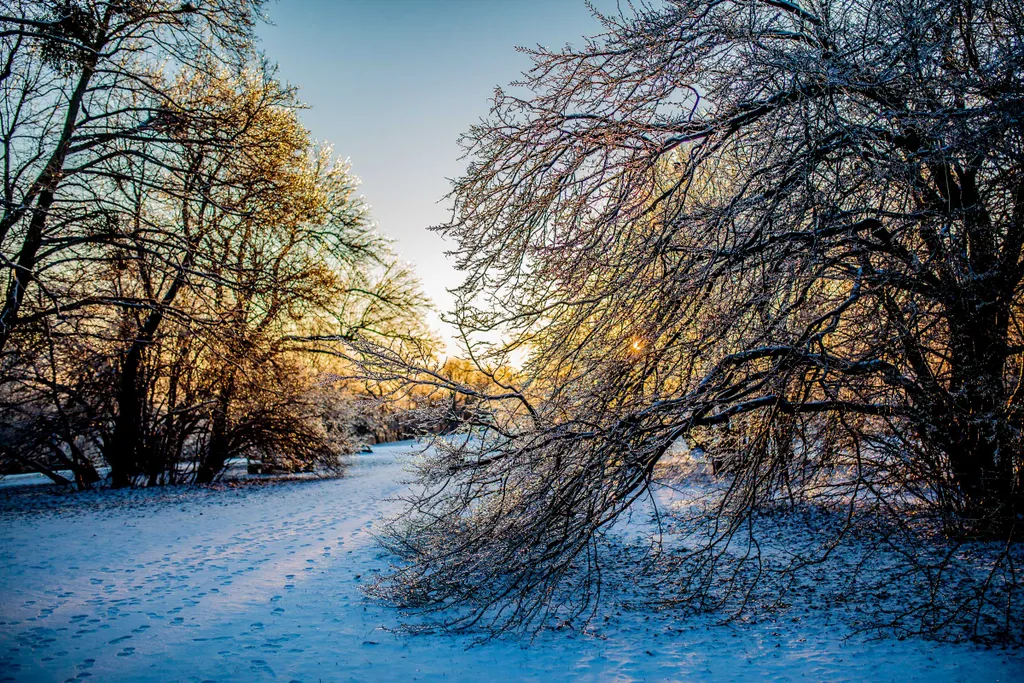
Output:
<svg viewBox="0 0 1024 683">
<path fill-rule="evenodd" d="M 524 352 L 525 379 L 424 466 L 389 537 L 409 563 L 379 593 L 469 605 L 463 627 L 584 613 L 603 529 L 673 444 L 703 442 L 729 483 L 684 594 L 736 579 L 730 544 L 780 501 L 907 533 L 927 511 L 1000 542 L 961 622 L 1019 635 L 1020 3 L 671 0 L 599 18 L 582 49 L 531 51 L 466 136 L 440 227 L 467 273 L 456 321 L 481 367 Z M 376 356 L 436 380 L 403 365 Z M 948 626 L 935 609 L 914 617 Z"/>
</svg>

